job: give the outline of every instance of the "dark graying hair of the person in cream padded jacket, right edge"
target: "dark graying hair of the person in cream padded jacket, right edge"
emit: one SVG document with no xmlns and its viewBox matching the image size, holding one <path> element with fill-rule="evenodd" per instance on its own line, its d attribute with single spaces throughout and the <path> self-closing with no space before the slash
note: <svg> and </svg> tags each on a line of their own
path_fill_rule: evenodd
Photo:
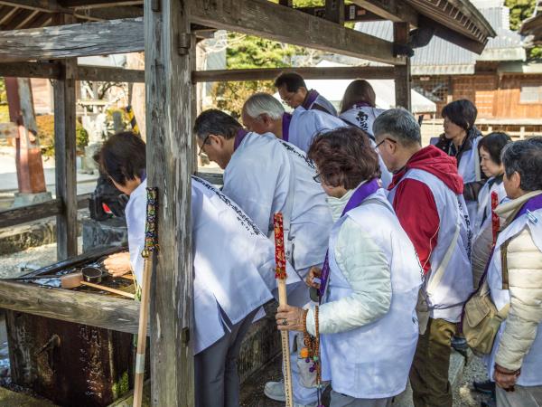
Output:
<svg viewBox="0 0 542 407">
<path fill-rule="evenodd" d="M 519 174 L 523 191 L 542 189 L 542 137 L 507 144 L 502 150 L 502 164 L 507 177 Z"/>
</svg>

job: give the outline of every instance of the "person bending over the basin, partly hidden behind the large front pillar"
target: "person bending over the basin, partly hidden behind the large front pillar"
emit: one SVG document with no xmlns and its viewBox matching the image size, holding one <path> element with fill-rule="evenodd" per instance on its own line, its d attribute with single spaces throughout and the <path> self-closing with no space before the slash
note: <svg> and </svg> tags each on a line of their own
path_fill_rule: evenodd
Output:
<svg viewBox="0 0 542 407">
<path fill-rule="evenodd" d="M 102 147 L 100 161 L 113 184 L 130 197 L 124 269 L 142 281 L 145 143 L 133 133 L 117 134 Z M 275 248 L 237 204 L 197 177 L 192 177 L 192 245 L 196 405 L 238 407 L 238 353 L 257 310 L 275 294 Z M 113 263 L 122 274 L 120 260 Z M 287 283 L 300 282 L 287 267 Z"/>
</svg>

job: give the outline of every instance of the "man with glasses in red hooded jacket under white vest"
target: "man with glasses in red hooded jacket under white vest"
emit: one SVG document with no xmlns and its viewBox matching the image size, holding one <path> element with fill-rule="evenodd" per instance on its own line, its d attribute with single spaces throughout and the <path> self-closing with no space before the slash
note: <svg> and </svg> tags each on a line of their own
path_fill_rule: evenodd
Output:
<svg viewBox="0 0 542 407">
<path fill-rule="evenodd" d="M 393 172 L 388 200 L 424 269 L 418 317 L 420 337 L 410 373 L 416 406 L 452 407 L 450 345 L 463 303 L 472 292 L 472 232 L 455 159 L 421 146 L 416 118 L 389 109 L 375 120 L 380 156 Z"/>
</svg>

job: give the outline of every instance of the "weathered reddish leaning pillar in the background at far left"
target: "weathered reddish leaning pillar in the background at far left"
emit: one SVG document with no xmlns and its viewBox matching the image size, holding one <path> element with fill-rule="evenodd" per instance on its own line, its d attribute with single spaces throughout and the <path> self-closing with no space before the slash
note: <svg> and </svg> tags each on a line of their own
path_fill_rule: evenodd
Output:
<svg viewBox="0 0 542 407">
<path fill-rule="evenodd" d="M 9 119 L 18 126 L 15 139 L 15 165 L 19 193 L 46 191 L 42 150 L 33 109 L 32 87 L 28 78 L 5 78 Z"/>
</svg>

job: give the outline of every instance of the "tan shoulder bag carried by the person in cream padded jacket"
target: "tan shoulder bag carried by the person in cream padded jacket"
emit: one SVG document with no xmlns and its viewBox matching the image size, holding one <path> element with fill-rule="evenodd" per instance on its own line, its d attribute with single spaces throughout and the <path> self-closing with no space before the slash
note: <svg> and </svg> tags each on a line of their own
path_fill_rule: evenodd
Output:
<svg viewBox="0 0 542 407">
<path fill-rule="evenodd" d="M 505 241 L 501 248 L 501 265 L 503 289 L 508 289 L 508 268 L 506 266 L 506 251 L 509 241 Z M 508 317 L 509 304 L 498 310 L 493 304 L 490 289 L 487 282 L 487 271 L 489 262 L 483 273 L 480 288 L 467 299 L 463 307 L 462 328 L 467 345 L 472 349 L 474 355 L 489 355 L 495 343 L 495 337 L 500 329 L 502 321 Z"/>
</svg>

